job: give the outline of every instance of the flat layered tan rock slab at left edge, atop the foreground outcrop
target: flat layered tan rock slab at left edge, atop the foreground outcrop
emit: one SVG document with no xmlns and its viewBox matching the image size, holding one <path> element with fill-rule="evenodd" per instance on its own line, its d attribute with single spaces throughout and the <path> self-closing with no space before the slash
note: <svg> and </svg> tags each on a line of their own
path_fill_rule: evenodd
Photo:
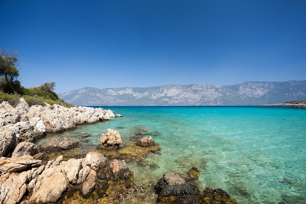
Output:
<svg viewBox="0 0 306 204">
<path fill-rule="evenodd" d="M 16 158 L 1 158 L 0 175 L 11 172 L 22 172 L 42 164 L 42 160 L 34 159 L 32 156 L 25 155 Z"/>
</svg>

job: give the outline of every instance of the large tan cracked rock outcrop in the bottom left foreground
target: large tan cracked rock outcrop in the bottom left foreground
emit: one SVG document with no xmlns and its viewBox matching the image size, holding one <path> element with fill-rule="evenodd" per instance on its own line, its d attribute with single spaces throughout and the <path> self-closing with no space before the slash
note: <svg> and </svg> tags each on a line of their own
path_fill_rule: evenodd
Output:
<svg viewBox="0 0 306 204">
<path fill-rule="evenodd" d="M 31 156 L 1 158 L 0 203 L 55 203 L 73 188 L 88 196 L 95 187 L 96 170 L 107 165 L 107 159 L 96 152 L 83 159 L 64 161 L 60 156 L 46 165 L 41 162 Z"/>
</svg>

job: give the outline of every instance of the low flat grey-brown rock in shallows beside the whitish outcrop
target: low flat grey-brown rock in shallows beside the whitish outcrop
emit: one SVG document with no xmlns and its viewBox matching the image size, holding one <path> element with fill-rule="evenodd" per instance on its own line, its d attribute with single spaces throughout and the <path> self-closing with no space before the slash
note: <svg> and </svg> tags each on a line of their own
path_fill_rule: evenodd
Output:
<svg viewBox="0 0 306 204">
<path fill-rule="evenodd" d="M 41 151 L 44 152 L 55 152 L 58 150 L 68 150 L 73 147 L 78 146 L 79 142 L 75 140 L 70 140 L 67 137 L 64 137 L 63 139 L 58 139 L 52 137 L 48 141 L 46 141 L 44 144 L 40 146 Z"/>
</svg>

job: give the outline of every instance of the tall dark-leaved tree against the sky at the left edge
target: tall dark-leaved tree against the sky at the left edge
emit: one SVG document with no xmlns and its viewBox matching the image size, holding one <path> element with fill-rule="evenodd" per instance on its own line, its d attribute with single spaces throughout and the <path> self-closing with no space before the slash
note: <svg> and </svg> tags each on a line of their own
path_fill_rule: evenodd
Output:
<svg viewBox="0 0 306 204">
<path fill-rule="evenodd" d="M 20 84 L 17 80 L 20 67 L 17 57 L 18 52 L 0 48 L 0 77 L 5 78 L 11 92 L 16 92 L 14 84 Z"/>
</svg>

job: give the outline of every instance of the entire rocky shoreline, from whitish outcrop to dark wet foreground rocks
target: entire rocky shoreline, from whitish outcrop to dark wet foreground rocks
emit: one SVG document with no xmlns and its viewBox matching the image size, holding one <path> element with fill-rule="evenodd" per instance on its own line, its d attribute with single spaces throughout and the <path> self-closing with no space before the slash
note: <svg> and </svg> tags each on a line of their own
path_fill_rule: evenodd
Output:
<svg viewBox="0 0 306 204">
<path fill-rule="evenodd" d="M 197 167 L 185 176 L 165 173 L 150 186 L 134 183 L 126 161 L 139 162 L 159 152 L 152 136 L 140 134 L 122 145 L 119 132 L 108 129 L 94 151 L 84 149 L 81 156 L 72 152 L 68 158 L 60 153 L 82 148 L 79 141 L 86 140 L 87 134 L 77 140 L 49 138 L 40 146 L 34 143 L 48 133 L 116 116 L 122 115 L 102 108 L 29 107 L 23 98 L 16 108 L 2 102 L 0 204 L 236 204 L 222 189 L 201 192 L 193 183 L 200 176 Z"/>
</svg>

